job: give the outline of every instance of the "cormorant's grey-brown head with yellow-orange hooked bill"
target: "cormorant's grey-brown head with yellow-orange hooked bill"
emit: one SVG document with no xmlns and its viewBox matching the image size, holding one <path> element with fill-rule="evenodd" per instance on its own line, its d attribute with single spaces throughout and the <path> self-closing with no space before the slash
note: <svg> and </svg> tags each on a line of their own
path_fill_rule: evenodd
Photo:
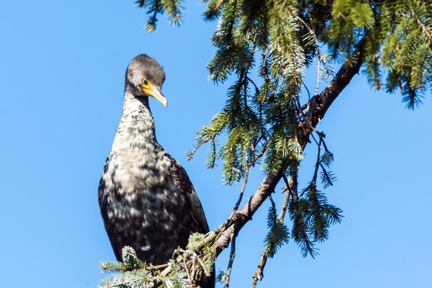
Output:
<svg viewBox="0 0 432 288">
<path fill-rule="evenodd" d="M 141 54 L 132 59 L 126 70 L 126 86 L 135 97 L 154 97 L 164 107 L 168 105 L 162 84 L 165 81 L 164 69 L 152 57 Z"/>
</svg>

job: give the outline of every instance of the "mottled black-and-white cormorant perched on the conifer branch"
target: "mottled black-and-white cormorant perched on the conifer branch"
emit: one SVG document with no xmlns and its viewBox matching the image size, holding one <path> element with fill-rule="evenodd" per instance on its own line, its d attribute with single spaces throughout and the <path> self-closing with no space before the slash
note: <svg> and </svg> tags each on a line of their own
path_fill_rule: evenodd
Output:
<svg viewBox="0 0 432 288">
<path fill-rule="evenodd" d="M 162 265 L 177 247 L 186 247 L 191 233 L 209 231 L 188 174 L 157 142 L 149 98 L 166 108 L 165 78 L 161 65 L 146 54 L 126 69 L 123 110 L 98 189 L 104 227 L 119 261 L 121 249 L 129 246 L 140 260 Z"/>
</svg>

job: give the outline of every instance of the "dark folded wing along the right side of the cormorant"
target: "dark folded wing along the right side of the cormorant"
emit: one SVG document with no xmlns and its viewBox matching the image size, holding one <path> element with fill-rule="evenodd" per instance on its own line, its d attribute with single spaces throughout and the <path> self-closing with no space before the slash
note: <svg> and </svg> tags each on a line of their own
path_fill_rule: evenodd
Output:
<svg viewBox="0 0 432 288">
<path fill-rule="evenodd" d="M 204 209 L 202 209 L 202 204 L 199 201 L 198 195 L 195 192 L 192 183 L 190 182 L 188 174 L 179 164 L 179 162 L 177 162 L 177 160 L 175 160 L 168 153 L 166 154 L 171 161 L 170 176 L 173 177 L 173 180 L 181 193 L 186 195 L 186 198 L 188 199 L 190 204 L 190 212 L 193 221 L 195 222 L 195 226 L 197 227 L 197 232 L 203 234 L 207 233 L 209 229 L 206 215 L 204 214 Z"/>
</svg>

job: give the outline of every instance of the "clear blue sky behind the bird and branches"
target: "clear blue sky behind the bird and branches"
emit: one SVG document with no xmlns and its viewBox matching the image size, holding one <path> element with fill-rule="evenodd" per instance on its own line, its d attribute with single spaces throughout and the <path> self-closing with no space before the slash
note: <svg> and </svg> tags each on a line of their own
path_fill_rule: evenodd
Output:
<svg viewBox="0 0 432 288">
<path fill-rule="evenodd" d="M 1 287 L 96 287 L 104 277 L 99 260 L 114 255 L 97 185 L 121 113 L 124 71 L 142 52 L 167 75 L 168 108 L 150 100 L 159 142 L 188 171 L 210 227 L 229 214 L 239 186 L 222 186 L 220 169 L 204 167 L 206 148 L 191 162 L 184 154 L 226 98 L 226 85 L 206 79 L 215 23 L 202 21 L 199 2 L 187 1 L 180 28 L 162 18 L 148 34 L 132 0 L 3 1 Z M 376 93 L 355 77 L 320 125 L 338 178 L 328 197 L 344 220 L 315 260 L 293 243 L 284 247 L 259 287 L 432 287 L 431 112 L 430 95 L 408 111 L 400 95 Z M 314 153 L 306 151 L 302 185 Z M 261 178 L 253 173 L 248 195 Z M 266 208 L 237 240 L 232 287 L 251 285 L 265 216 Z"/>
</svg>

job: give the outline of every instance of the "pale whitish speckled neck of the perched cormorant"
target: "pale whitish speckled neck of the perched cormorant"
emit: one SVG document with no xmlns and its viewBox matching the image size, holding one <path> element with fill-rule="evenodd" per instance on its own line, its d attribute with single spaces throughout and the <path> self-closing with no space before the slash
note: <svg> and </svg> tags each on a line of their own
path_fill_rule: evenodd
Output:
<svg viewBox="0 0 432 288">
<path fill-rule="evenodd" d="M 135 97 L 126 89 L 123 111 L 112 148 L 149 151 L 156 145 L 155 124 L 148 106 L 148 97 Z"/>
</svg>

